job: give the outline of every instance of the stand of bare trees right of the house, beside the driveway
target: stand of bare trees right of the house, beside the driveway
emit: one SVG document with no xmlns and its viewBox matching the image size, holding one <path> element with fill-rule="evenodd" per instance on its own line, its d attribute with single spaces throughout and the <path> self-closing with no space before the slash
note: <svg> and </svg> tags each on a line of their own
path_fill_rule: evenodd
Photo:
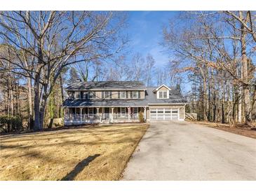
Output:
<svg viewBox="0 0 256 192">
<path fill-rule="evenodd" d="M 187 112 L 205 121 L 255 121 L 255 27 L 255 12 L 220 11 L 184 13 L 163 29 L 175 76 L 187 72 L 191 81 Z"/>
</svg>

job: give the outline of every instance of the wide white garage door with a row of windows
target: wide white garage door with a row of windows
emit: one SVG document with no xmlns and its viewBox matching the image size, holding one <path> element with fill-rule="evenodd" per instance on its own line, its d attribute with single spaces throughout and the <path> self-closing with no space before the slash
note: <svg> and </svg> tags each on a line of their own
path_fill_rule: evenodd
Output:
<svg viewBox="0 0 256 192">
<path fill-rule="evenodd" d="M 154 108 L 150 109 L 151 120 L 178 120 L 177 108 Z"/>
</svg>

